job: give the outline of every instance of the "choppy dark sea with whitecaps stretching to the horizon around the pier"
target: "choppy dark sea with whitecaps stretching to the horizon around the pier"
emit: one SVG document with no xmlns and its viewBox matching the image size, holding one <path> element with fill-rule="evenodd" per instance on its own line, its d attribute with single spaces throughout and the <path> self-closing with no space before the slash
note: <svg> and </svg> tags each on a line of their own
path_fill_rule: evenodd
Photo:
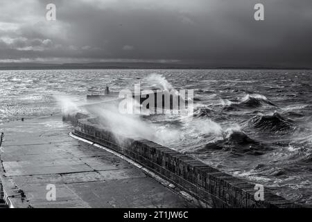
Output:
<svg viewBox="0 0 312 222">
<path fill-rule="evenodd" d="M 157 142 L 289 200 L 312 204 L 312 71 L 0 71 L 0 128 L 5 121 L 60 112 L 55 95 L 83 101 L 106 85 L 115 92 L 140 81 L 144 85 L 150 74 L 163 76 L 175 89 L 195 90 L 193 118 L 146 118 L 156 135 L 178 133 Z"/>
</svg>

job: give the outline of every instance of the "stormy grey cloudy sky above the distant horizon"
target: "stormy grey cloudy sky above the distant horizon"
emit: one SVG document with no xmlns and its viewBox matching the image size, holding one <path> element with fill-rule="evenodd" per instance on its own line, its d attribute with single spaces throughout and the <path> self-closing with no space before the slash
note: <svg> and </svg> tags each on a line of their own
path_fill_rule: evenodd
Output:
<svg viewBox="0 0 312 222">
<path fill-rule="evenodd" d="M 115 61 L 312 67 L 312 1 L 0 0 L 0 62 Z"/>
</svg>

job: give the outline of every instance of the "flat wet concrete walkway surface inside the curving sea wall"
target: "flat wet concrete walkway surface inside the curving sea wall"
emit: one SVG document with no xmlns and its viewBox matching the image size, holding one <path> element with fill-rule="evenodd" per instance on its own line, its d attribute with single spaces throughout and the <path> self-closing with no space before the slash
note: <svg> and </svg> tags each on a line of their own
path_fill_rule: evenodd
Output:
<svg viewBox="0 0 312 222">
<path fill-rule="evenodd" d="M 60 116 L 0 128 L 1 181 L 12 207 L 194 207 L 125 160 L 69 137 Z M 46 200 L 49 184 L 55 201 Z"/>
</svg>

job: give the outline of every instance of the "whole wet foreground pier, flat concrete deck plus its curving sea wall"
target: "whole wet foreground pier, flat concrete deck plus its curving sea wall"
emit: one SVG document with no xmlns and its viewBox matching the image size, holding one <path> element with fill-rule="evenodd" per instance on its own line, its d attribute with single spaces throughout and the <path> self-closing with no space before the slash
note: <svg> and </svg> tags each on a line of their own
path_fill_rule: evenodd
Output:
<svg viewBox="0 0 312 222">
<path fill-rule="evenodd" d="M 301 207 L 171 148 L 113 133 L 98 108 L 6 123 L 0 176 L 8 207 Z M 97 111 L 96 111 L 97 110 Z M 55 200 L 49 187 L 55 187 Z"/>
</svg>

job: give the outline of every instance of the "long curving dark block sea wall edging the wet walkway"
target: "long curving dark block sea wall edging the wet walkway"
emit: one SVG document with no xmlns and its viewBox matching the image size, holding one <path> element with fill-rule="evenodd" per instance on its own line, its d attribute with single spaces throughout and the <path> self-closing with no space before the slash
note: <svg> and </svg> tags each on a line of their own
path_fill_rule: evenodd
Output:
<svg viewBox="0 0 312 222">
<path fill-rule="evenodd" d="M 264 188 L 255 200 L 255 185 L 209 167 L 193 157 L 146 139 L 114 135 L 86 114 L 66 114 L 74 134 L 129 157 L 211 207 L 300 207 Z"/>
</svg>

